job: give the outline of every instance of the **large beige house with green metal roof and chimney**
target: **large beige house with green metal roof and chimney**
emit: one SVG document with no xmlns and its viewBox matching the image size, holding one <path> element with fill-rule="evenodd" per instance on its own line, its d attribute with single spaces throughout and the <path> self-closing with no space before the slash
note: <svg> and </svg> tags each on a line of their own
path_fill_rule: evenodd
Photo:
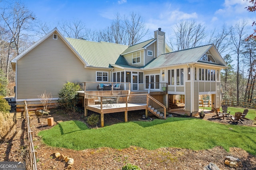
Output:
<svg viewBox="0 0 256 170">
<path fill-rule="evenodd" d="M 44 91 L 56 101 L 68 81 L 128 82 L 130 91 L 156 92 L 156 98 L 166 92 L 158 100 L 166 108 L 184 104 L 190 116 L 198 113 L 199 95 L 210 95 L 212 107 L 220 108 L 220 70 L 227 67 L 214 44 L 172 51 L 160 28 L 153 39 L 132 46 L 64 38 L 55 28 L 11 63 L 17 105 L 39 103 Z"/>
</svg>

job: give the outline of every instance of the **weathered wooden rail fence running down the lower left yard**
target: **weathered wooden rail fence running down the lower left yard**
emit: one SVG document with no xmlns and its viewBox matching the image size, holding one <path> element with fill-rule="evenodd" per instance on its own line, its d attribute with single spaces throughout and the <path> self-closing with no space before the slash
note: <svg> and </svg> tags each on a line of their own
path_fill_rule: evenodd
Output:
<svg viewBox="0 0 256 170">
<path fill-rule="evenodd" d="M 26 124 L 27 124 L 27 130 L 28 130 L 28 142 L 29 142 L 29 159 L 30 159 L 30 165 L 32 170 L 37 170 L 36 168 L 36 156 L 37 151 L 34 150 L 34 144 L 33 144 L 33 131 L 30 129 L 30 117 L 28 115 L 28 105 L 26 101 L 24 101 L 24 112 L 26 117 Z"/>
</svg>

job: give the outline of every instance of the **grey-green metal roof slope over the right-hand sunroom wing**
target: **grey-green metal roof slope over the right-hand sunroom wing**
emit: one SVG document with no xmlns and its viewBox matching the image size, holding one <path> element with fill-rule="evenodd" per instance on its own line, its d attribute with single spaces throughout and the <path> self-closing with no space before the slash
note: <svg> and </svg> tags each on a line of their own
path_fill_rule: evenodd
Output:
<svg viewBox="0 0 256 170">
<path fill-rule="evenodd" d="M 184 49 L 180 51 L 174 51 L 171 53 L 166 53 L 158 56 L 154 61 L 150 62 L 144 67 L 144 69 L 156 68 L 156 67 L 165 67 L 171 65 L 180 65 L 187 63 L 198 62 L 200 57 L 204 55 L 208 50 L 213 48 L 213 44 L 203 45 L 200 47 L 194 47 L 189 49 Z M 215 56 L 216 57 L 216 56 Z M 220 56 L 221 57 L 221 56 Z M 220 60 L 218 60 L 220 61 Z M 224 63 L 213 63 L 215 65 L 226 66 Z"/>
</svg>

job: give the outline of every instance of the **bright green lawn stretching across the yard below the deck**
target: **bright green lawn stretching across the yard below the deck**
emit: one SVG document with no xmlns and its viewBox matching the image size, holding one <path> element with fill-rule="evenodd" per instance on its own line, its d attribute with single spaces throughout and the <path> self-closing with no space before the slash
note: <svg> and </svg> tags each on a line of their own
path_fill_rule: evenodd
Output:
<svg viewBox="0 0 256 170">
<path fill-rule="evenodd" d="M 66 121 L 38 134 L 50 146 L 74 150 L 130 146 L 150 150 L 162 147 L 202 150 L 222 146 L 227 151 L 230 147 L 238 147 L 256 155 L 255 127 L 224 125 L 196 118 L 170 117 L 97 129 L 89 129 L 80 121 Z"/>
</svg>

